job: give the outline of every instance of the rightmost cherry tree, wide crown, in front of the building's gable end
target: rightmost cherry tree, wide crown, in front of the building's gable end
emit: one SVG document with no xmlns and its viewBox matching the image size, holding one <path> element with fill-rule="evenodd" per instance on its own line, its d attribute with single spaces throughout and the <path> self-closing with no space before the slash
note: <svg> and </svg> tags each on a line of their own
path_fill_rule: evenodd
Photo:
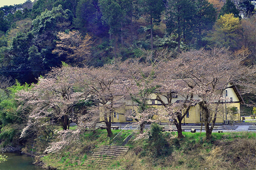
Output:
<svg viewBox="0 0 256 170">
<path fill-rule="evenodd" d="M 200 106 L 207 139 L 211 138 L 220 104 L 225 100 L 225 89 L 230 85 L 248 84 L 251 73 L 255 73 L 254 68 L 242 65 L 246 57 L 215 48 L 186 52 L 177 58 L 180 63 L 176 76 L 193 93 L 192 103 Z"/>
</svg>

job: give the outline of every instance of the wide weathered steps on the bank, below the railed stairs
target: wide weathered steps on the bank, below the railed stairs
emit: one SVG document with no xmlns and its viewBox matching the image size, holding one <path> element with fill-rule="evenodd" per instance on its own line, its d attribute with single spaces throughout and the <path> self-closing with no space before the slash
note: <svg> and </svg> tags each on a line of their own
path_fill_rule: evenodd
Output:
<svg viewBox="0 0 256 170">
<path fill-rule="evenodd" d="M 95 163 L 101 166 L 109 164 L 118 156 L 125 155 L 129 150 L 129 147 L 103 145 L 100 146 L 93 155 L 88 158 L 87 164 Z"/>
</svg>

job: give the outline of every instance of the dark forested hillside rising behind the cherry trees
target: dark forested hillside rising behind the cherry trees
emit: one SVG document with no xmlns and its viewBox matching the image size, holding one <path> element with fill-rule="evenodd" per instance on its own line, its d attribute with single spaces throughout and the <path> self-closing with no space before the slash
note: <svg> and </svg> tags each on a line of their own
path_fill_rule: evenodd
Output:
<svg viewBox="0 0 256 170">
<path fill-rule="evenodd" d="M 0 8 L 0 74 L 30 84 L 64 61 L 103 66 L 168 49 L 224 46 L 256 61 L 251 0 L 27 0 Z"/>
</svg>

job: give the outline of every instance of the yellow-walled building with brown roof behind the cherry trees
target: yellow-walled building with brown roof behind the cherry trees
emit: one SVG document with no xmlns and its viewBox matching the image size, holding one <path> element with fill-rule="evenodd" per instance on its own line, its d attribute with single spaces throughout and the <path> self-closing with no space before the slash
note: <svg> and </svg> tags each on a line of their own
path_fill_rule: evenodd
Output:
<svg viewBox="0 0 256 170">
<path fill-rule="evenodd" d="M 155 93 L 150 96 L 151 100 L 147 101 L 147 104 L 155 107 L 161 108 L 163 105 L 160 101 L 154 100 L 160 96 L 162 101 L 167 104 L 167 98 L 165 98 L 160 93 Z M 195 99 L 200 100 L 200 97 L 194 96 Z M 228 124 L 230 121 L 240 121 L 240 104 L 244 104 L 244 101 L 237 89 L 236 86 L 228 85 L 227 88 L 223 92 L 223 101 L 219 104 L 218 107 L 218 114 L 215 123 L 224 123 Z M 172 103 L 179 102 L 184 100 L 180 95 L 173 93 L 172 95 Z M 114 123 L 122 123 L 122 122 L 136 122 L 133 118 L 129 117 L 132 115 L 133 110 L 137 110 L 137 105 L 133 102 L 130 98 L 124 98 L 120 101 L 120 106 L 118 109 L 115 110 L 112 114 L 112 122 Z M 229 114 L 229 108 L 235 108 L 235 114 Z M 233 109 L 234 110 L 234 109 Z M 103 119 L 101 119 L 103 120 Z M 159 120 L 161 122 L 167 122 L 168 120 Z M 192 104 L 189 109 L 189 112 L 185 115 L 184 119 L 182 120 L 184 124 L 201 124 L 201 109 L 198 104 Z"/>
</svg>

